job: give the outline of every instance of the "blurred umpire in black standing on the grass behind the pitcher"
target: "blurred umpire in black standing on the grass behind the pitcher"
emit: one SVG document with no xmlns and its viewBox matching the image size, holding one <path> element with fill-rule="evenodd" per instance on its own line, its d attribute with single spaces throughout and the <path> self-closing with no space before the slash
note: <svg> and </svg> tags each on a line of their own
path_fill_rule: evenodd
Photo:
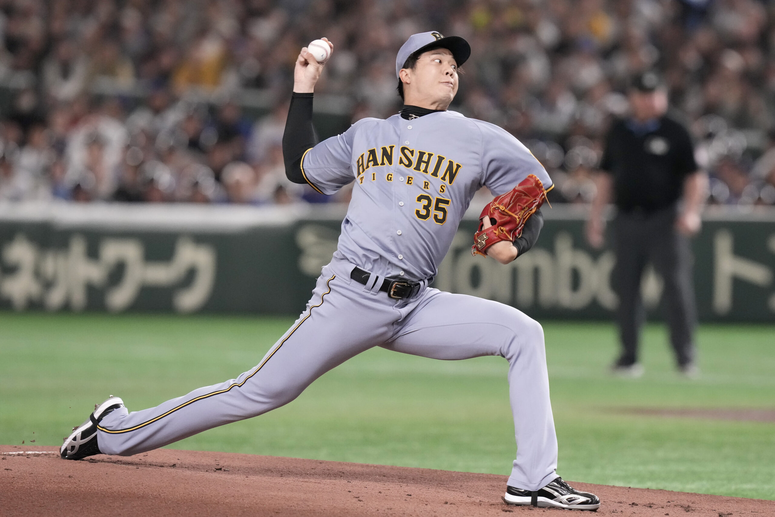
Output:
<svg viewBox="0 0 775 517">
<path fill-rule="evenodd" d="M 587 221 L 587 240 L 604 243 L 603 209 L 616 205 L 614 284 L 619 298 L 622 355 L 614 371 L 639 377 L 639 330 L 645 319 L 640 296 L 649 261 L 664 281 L 663 302 L 670 343 L 680 372 L 698 374 L 694 363 L 696 314 L 689 237 L 701 226 L 708 178 L 698 170 L 687 130 L 666 115 L 667 91 L 656 72 L 632 79 L 630 116 L 611 126 L 605 141 L 598 193 Z"/>
</svg>

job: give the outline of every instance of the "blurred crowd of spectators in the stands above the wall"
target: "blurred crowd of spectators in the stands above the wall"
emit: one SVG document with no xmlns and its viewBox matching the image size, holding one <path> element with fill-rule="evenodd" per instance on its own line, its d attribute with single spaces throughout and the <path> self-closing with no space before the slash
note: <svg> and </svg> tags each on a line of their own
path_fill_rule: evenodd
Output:
<svg viewBox="0 0 775 517">
<path fill-rule="evenodd" d="M 0 199 L 345 202 L 289 183 L 301 47 L 345 122 L 400 107 L 412 33 L 471 43 L 452 109 L 522 140 L 553 202 L 587 202 L 632 74 L 661 71 L 711 202 L 775 204 L 775 4 L 763 0 L 0 0 Z M 248 116 L 239 94 L 270 99 Z"/>
</svg>

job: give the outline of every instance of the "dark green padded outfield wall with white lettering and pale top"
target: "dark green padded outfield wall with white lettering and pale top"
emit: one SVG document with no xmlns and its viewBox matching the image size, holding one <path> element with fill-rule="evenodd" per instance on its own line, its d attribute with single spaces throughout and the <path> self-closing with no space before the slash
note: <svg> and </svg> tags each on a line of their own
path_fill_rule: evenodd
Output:
<svg viewBox="0 0 775 517">
<path fill-rule="evenodd" d="M 611 250 L 584 243 L 585 209 L 546 209 L 539 243 L 508 266 L 470 254 L 477 206 L 434 285 L 538 319 L 608 319 Z M 336 250 L 339 206 L 0 205 L 0 308 L 108 312 L 303 310 Z M 775 321 L 775 211 L 708 210 L 694 240 L 704 321 Z M 662 281 L 642 296 L 659 317 Z"/>
</svg>

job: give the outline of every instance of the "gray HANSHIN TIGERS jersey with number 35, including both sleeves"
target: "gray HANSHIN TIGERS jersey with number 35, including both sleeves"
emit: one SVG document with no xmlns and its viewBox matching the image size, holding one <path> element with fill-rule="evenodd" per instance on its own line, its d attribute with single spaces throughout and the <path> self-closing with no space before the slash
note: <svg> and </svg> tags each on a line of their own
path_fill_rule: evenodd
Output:
<svg viewBox="0 0 775 517">
<path fill-rule="evenodd" d="M 305 178 L 324 194 L 355 181 L 339 253 L 367 271 L 436 275 L 471 198 L 510 191 L 528 174 L 552 180 L 514 136 L 457 112 L 361 119 L 308 150 Z"/>
</svg>

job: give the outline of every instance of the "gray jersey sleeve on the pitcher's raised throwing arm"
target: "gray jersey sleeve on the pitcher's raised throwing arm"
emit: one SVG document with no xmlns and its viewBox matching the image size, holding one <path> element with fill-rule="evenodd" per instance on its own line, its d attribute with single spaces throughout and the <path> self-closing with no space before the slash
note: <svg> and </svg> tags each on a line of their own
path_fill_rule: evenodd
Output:
<svg viewBox="0 0 775 517">
<path fill-rule="evenodd" d="M 301 172 L 307 183 L 321 194 L 332 195 L 355 179 L 353 173 L 353 139 L 363 119 L 344 133 L 323 140 L 307 150 L 301 158 Z"/>
</svg>

